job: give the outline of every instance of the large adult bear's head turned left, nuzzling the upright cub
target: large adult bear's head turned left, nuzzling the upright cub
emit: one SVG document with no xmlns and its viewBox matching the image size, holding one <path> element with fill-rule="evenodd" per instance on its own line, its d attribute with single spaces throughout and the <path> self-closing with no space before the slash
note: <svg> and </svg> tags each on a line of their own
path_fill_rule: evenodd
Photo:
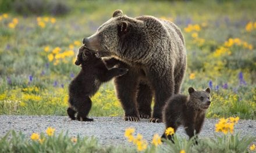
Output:
<svg viewBox="0 0 256 153">
<path fill-rule="evenodd" d="M 84 38 L 83 43 L 90 49 L 98 50 L 102 56 L 130 57 L 130 50 L 136 49 L 132 46 L 140 46 L 138 43 L 143 42 L 139 37 L 143 30 L 138 28 L 143 26 L 142 21 L 127 17 L 122 10 L 116 10 L 112 18 L 102 24 L 93 35 Z"/>
</svg>

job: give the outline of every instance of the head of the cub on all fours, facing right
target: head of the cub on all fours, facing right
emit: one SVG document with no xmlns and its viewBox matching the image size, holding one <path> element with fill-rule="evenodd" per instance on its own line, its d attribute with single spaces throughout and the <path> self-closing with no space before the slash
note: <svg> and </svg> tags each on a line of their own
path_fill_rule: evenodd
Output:
<svg viewBox="0 0 256 153">
<path fill-rule="evenodd" d="M 211 104 L 211 89 L 207 88 L 205 90 L 195 90 L 194 88 L 189 88 L 190 104 L 195 108 L 201 110 L 206 110 Z"/>
</svg>

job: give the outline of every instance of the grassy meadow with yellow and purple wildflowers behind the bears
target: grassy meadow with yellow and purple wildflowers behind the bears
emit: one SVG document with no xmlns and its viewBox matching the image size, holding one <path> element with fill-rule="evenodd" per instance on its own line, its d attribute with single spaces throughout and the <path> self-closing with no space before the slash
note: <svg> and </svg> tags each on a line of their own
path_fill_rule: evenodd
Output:
<svg viewBox="0 0 256 153">
<path fill-rule="evenodd" d="M 187 71 L 182 93 L 207 88 L 207 118 L 256 119 L 255 1 L 68 1 L 65 16 L 0 13 L 0 115 L 66 115 L 67 87 L 83 38 L 111 18 L 143 14 L 183 32 Z M 93 97 L 91 116 L 122 116 L 113 83 Z"/>
</svg>

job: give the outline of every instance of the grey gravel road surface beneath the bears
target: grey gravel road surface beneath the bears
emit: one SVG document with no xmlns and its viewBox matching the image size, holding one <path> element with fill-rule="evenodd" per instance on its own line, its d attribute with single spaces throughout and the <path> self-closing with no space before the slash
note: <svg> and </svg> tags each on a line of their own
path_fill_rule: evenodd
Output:
<svg viewBox="0 0 256 153">
<path fill-rule="evenodd" d="M 204 123 L 200 137 L 214 136 L 215 123 L 218 119 L 207 119 Z M 10 129 L 22 131 L 28 137 L 33 132 L 45 132 L 47 127 L 56 129 L 56 133 L 68 131 L 70 136 L 94 136 L 102 144 L 129 144 L 123 136 L 125 129 L 133 127 L 136 133 L 141 133 L 149 142 L 155 133 L 161 135 L 165 126 L 163 123 L 148 123 L 148 119 L 140 122 L 125 122 L 121 117 L 94 117 L 94 122 L 70 121 L 67 116 L 9 116 L 0 115 L 0 137 Z M 256 136 L 255 120 L 240 120 L 234 132 L 241 132 L 241 136 L 249 134 Z M 179 136 L 185 137 L 183 127 L 177 130 Z"/>
</svg>

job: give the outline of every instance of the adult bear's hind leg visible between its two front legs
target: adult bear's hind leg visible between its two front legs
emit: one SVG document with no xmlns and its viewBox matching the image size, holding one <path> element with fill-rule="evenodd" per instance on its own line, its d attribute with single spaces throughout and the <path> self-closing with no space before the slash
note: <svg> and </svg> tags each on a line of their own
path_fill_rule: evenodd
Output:
<svg viewBox="0 0 256 153">
<path fill-rule="evenodd" d="M 151 117 L 152 97 L 153 93 L 150 86 L 140 83 L 137 93 L 138 112 L 140 114 L 140 118 Z"/>
</svg>

